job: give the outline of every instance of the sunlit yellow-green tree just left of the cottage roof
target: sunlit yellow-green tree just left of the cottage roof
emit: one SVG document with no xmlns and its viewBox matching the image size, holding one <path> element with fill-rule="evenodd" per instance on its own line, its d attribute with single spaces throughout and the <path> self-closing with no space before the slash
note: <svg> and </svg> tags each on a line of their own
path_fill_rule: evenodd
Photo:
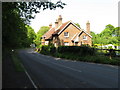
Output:
<svg viewBox="0 0 120 90">
<path fill-rule="evenodd" d="M 35 44 L 39 46 L 41 44 L 41 37 L 44 35 L 50 28 L 48 26 L 42 26 L 40 30 L 37 32 L 37 37 L 34 40 Z"/>
</svg>

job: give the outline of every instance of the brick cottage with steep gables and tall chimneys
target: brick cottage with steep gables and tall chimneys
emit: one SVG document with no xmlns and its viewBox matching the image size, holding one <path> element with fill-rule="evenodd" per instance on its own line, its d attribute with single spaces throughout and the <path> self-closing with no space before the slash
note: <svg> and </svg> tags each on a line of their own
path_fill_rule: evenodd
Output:
<svg viewBox="0 0 120 90">
<path fill-rule="evenodd" d="M 41 39 L 42 45 L 54 44 L 58 46 L 81 46 L 92 45 L 90 35 L 90 23 L 86 23 L 86 31 L 78 27 L 74 22 L 67 21 L 62 23 L 62 17 L 59 15 L 55 22 L 55 27 L 49 25 L 50 30 L 46 32 Z"/>
</svg>

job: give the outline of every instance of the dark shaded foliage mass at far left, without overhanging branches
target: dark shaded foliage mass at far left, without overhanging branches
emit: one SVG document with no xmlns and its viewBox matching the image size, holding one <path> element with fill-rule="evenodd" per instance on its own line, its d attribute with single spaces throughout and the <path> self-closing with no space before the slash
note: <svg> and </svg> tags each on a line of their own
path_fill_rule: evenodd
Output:
<svg viewBox="0 0 120 90">
<path fill-rule="evenodd" d="M 27 29 L 23 19 L 20 18 L 13 3 L 2 4 L 2 36 L 3 47 L 17 48 L 26 46 Z"/>
</svg>

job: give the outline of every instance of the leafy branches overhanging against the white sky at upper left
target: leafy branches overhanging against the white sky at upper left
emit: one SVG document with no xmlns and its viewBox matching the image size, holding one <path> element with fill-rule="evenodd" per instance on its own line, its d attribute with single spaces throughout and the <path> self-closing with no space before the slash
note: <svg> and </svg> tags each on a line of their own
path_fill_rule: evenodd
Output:
<svg viewBox="0 0 120 90">
<path fill-rule="evenodd" d="M 37 1 L 37 0 L 36 0 Z M 37 1 L 37 2 L 19 2 L 15 3 L 16 8 L 19 10 L 20 16 L 22 16 L 26 23 L 29 23 L 30 20 L 34 18 L 33 13 L 39 13 L 40 10 L 55 10 L 56 8 L 64 8 L 65 3 L 57 1 L 53 3 L 51 1 Z"/>
</svg>

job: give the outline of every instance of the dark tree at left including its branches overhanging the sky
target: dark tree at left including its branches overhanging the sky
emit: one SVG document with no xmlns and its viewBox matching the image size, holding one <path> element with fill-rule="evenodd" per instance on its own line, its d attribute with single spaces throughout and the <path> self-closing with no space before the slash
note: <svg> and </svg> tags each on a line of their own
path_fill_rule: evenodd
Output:
<svg viewBox="0 0 120 90">
<path fill-rule="evenodd" d="M 33 13 L 39 13 L 41 9 L 63 8 L 65 3 L 47 2 L 3 2 L 2 3 L 2 46 L 3 48 L 18 48 L 28 46 L 26 24 L 33 19 Z"/>
</svg>

